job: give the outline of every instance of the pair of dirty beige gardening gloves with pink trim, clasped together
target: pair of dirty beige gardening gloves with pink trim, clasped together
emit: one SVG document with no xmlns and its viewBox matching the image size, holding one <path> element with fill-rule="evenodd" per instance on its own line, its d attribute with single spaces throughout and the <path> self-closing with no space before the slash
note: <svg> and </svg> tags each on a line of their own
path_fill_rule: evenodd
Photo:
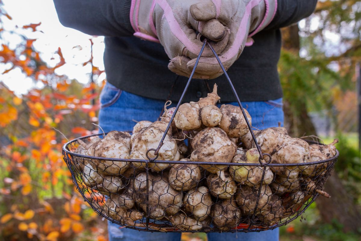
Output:
<svg viewBox="0 0 361 241">
<path fill-rule="evenodd" d="M 228 69 L 244 46 L 252 44 L 247 42 L 247 36 L 266 27 L 277 9 L 277 0 L 132 0 L 131 3 L 134 35 L 160 42 L 171 59 L 168 68 L 182 76 L 189 76 L 195 64 L 203 44 L 200 34 L 213 40 L 212 46 Z M 205 48 L 194 78 L 210 79 L 221 74 L 213 53 Z"/>
</svg>

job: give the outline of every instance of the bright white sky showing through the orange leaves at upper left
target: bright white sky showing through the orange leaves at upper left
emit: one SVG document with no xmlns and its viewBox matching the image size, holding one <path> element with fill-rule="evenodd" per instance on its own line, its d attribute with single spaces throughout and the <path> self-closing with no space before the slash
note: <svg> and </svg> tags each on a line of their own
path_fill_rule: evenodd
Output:
<svg viewBox="0 0 361 241">
<path fill-rule="evenodd" d="M 34 47 L 40 52 L 40 57 L 48 63 L 49 66 L 54 66 L 58 63 L 57 55 L 54 52 L 58 47 L 61 48 L 66 64 L 56 69 L 57 74 L 65 74 L 70 79 L 77 79 L 81 83 L 88 83 L 90 81 L 90 64 L 82 66 L 84 62 L 90 59 L 90 41 L 92 36 L 83 34 L 80 31 L 70 29 L 61 25 L 56 14 L 56 10 L 51 0 L 3 0 L 4 8 L 8 14 L 13 18 L 8 20 L 2 18 L 4 21 L 4 29 L 16 30 L 19 33 L 25 34 L 29 39 L 37 39 L 34 42 Z M 21 6 L 21 7 L 20 7 Z M 36 29 L 43 31 L 43 33 L 32 33 L 31 29 L 23 30 L 23 25 L 30 23 L 42 22 Z M 18 26 L 18 29 L 16 28 Z M 3 34 L 3 43 L 9 44 L 10 48 L 15 48 L 21 41 L 17 35 Z M 104 70 L 103 52 L 104 52 L 104 37 L 93 38 L 93 64 Z M 81 48 L 73 48 L 81 46 Z M 52 58 L 55 58 L 52 60 Z M 0 73 L 9 68 L 9 65 L 0 65 Z M 105 78 L 102 74 L 99 80 Z M 27 78 L 19 69 L 14 69 L 7 74 L 0 77 L 0 81 L 4 82 L 10 90 L 16 94 L 25 94 L 31 88 L 39 88 L 31 78 Z"/>
</svg>

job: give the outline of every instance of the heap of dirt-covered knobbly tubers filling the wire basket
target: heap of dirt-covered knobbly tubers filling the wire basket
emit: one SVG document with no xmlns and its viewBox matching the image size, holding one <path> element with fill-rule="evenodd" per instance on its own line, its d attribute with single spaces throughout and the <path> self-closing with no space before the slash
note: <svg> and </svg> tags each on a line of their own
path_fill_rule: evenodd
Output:
<svg viewBox="0 0 361 241">
<path fill-rule="evenodd" d="M 87 143 L 79 139 L 77 154 L 128 159 L 73 156 L 73 168 L 84 189 L 105 196 L 103 214 L 123 225 L 143 228 L 149 217 L 153 219 L 149 227 L 159 231 L 226 232 L 240 224 L 277 225 L 316 191 L 324 193 L 318 182 L 330 162 L 296 164 L 332 158 L 336 155 L 333 145 L 309 145 L 290 137 L 283 127 L 255 130 L 257 143 L 262 153 L 271 156 L 271 163 L 295 164 L 261 166 L 241 109 L 229 104 L 218 108 L 219 100 L 214 85 L 206 98 L 182 104 L 158 154 L 148 150 L 157 149 L 175 108 L 165 108 L 159 121 L 139 121 L 132 135 L 112 131 Z M 147 155 L 179 162 L 149 162 L 147 174 L 145 162 L 139 161 L 147 160 Z M 268 156 L 264 159 L 261 162 L 269 160 Z"/>
</svg>

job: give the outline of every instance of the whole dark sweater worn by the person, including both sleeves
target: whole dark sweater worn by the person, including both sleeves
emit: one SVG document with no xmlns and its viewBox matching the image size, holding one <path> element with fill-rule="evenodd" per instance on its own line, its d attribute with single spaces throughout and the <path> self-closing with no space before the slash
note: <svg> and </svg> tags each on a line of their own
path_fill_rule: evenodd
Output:
<svg viewBox="0 0 361 241">
<path fill-rule="evenodd" d="M 132 35 L 130 1 L 54 0 L 54 3 L 62 25 L 105 36 L 104 65 L 109 83 L 154 99 L 165 100 L 170 94 L 170 100 L 178 101 L 187 78 L 168 69 L 169 58 L 161 44 Z M 255 43 L 246 47 L 227 71 L 241 101 L 282 97 L 277 72 L 281 48 L 279 28 L 309 16 L 316 3 L 317 0 L 278 0 L 273 21 L 253 36 Z M 211 87 L 217 83 L 222 102 L 235 101 L 224 75 L 207 82 Z M 204 80 L 193 79 L 184 100 L 197 101 L 207 92 Z"/>
</svg>

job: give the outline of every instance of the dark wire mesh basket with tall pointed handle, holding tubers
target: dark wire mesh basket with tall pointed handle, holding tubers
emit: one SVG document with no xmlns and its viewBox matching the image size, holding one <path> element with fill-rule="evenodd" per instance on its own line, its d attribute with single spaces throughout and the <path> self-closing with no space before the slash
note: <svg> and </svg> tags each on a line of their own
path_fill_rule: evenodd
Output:
<svg viewBox="0 0 361 241">
<path fill-rule="evenodd" d="M 232 82 L 209 43 L 238 100 L 255 148 L 238 150 L 230 163 L 157 160 L 206 44 L 205 40 L 158 148 L 149 149 L 147 159 L 85 155 L 89 152 L 84 146 L 99 141 L 97 135 L 65 143 L 63 158 L 75 187 L 100 216 L 150 232 L 260 232 L 290 223 L 319 194 L 326 195 L 323 185 L 332 174 L 338 151 L 334 149 L 325 160 L 271 162 L 272 153 L 262 153 Z M 130 134 L 117 134 L 130 141 Z M 322 149 L 322 145 L 315 148 Z M 258 162 L 244 161 L 251 151 Z"/>
</svg>

